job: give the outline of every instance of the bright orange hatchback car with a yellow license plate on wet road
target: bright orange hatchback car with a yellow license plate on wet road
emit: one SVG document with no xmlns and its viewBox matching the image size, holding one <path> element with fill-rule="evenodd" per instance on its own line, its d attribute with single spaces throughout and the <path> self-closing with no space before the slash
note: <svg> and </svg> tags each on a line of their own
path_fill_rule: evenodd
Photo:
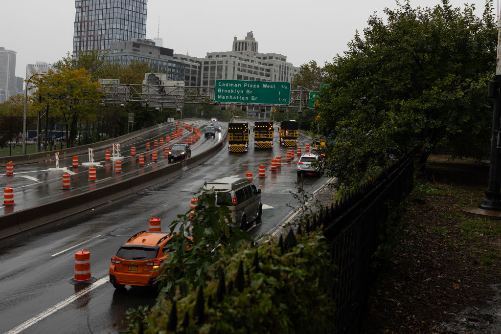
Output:
<svg viewBox="0 0 501 334">
<path fill-rule="evenodd" d="M 160 271 L 153 269 L 158 268 L 169 256 L 171 239 L 172 236 L 165 232 L 141 231 L 131 236 L 111 258 L 110 282 L 113 286 L 154 286 L 153 281 Z M 191 242 L 190 238 L 187 239 Z"/>
</svg>

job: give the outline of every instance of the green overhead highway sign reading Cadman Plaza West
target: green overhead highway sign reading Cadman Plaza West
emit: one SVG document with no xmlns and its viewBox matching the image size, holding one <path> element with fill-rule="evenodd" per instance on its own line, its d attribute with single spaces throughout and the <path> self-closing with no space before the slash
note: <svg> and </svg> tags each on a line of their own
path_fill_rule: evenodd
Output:
<svg viewBox="0 0 501 334">
<path fill-rule="evenodd" d="M 291 83 L 276 81 L 216 80 L 214 101 L 289 105 Z"/>
</svg>

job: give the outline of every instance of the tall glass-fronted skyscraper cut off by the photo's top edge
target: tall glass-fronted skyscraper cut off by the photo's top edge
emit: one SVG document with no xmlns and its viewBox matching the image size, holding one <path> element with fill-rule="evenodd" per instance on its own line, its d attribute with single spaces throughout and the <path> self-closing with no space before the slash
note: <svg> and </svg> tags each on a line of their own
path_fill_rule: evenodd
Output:
<svg viewBox="0 0 501 334">
<path fill-rule="evenodd" d="M 146 38 L 148 0 L 75 0 L 73 57 L 109 50 L 111 42 Z"/>
</svg>

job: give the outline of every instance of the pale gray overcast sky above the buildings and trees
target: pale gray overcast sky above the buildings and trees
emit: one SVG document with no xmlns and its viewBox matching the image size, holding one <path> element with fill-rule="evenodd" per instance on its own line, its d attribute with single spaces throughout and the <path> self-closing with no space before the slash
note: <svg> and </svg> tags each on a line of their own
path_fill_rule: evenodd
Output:
<svg viewBox="0 0 501 334">
<path fill-rule="evenodd" d="M 498 13 L 497 1 L 494 10 Z M 401 0 L 404 2 L 404 0 Z M 450 0 L 463 8 L 465 0 Z M 439 0 L 411 0 L 413 8 L 433 7 Z M 485 0 L 476 4 L 481 16 Z M 0 0 L 0 47 L 14 50 L 16 75 L 25 77 L 26 65 L 54 63 L 72 50 L 75 2 L 73 0 Z M 207 52 L 230 51 L 233 37 L 253 31 L 259 52 L 287 56 L 294 66 L 311 60 L 331 62 L 347 50 L 355 31 L 367 27 L 374 12 L 385 18 L 384 8 L 395 0 L 148 0 L 146 38 L 159 37 L 174 53 L 204 57 Z"/>
</svg>

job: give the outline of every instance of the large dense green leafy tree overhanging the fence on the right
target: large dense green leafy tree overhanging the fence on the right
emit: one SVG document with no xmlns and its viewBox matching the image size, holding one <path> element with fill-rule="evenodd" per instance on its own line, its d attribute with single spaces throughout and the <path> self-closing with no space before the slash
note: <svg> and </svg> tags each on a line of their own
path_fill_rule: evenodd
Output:
<svg viewBox="0 0 501 334">
<path fill-rule="evenodd" d="M 492 1 L 481 18 L 447 0 L 433 8 L 399 2 L 368 20 L 343 56 L 327 65 L 318 126 L 328 133 L 329 175 L 350 189 L 408 152 L 421 165 L 437 149 L 488 156 L 496 61 Z"/>
</svg>

